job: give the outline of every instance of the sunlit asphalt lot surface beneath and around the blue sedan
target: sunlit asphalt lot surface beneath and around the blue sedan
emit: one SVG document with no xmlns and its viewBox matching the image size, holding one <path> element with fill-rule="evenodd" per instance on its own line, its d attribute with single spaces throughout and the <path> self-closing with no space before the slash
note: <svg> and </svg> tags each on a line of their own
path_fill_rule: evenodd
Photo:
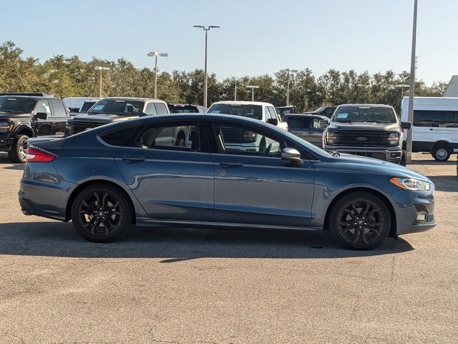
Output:
<svg viewBox="0 0 458 344">
<path fill-rule="evenodd" d="M 364 252 L 191 228 L 89 243 L 22 214 L 24 166 L 0 153 L 0 343 L 457 343 L 456 155 L 413 159 L 437 226 Z"/>
</svg>

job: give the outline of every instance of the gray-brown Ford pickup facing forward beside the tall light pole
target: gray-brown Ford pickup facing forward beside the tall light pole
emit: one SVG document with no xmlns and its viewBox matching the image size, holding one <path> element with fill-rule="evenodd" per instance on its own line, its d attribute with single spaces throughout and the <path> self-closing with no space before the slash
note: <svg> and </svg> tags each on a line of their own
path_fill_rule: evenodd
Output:
<svg viewBox="0 0 458 344">
<path fill-rule="evenodd" d="M 403 129 L 411 123 L 399 123 L 391 105 L 344 104 L 334 111 L 325 129 L 323 148 L 327 151 L 362 155 L 405 166 L 402 149 Z"/>
</svg>

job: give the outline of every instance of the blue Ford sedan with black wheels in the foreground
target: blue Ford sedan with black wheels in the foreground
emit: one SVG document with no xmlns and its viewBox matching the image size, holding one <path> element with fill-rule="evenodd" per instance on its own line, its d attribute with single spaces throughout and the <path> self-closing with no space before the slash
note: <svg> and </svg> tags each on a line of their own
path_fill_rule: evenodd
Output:
<svg viewBox="0 0 458 344">
<path fill-rule="evenodd" d="M 174 139 L 177 128 L 188 128 L 184 142 Z M 279 148 L 240 150 L 226 144 L 228 135 Z M 367 250 L 434 227 L 433 191 L 403 166 L 328 153 L 257 119 L 195 113 L 31 139 L 19 203 L 26 215 L 71 220 L 94 242 L 134 224 L 330 230 L 345 247 Z"/>
</svg>

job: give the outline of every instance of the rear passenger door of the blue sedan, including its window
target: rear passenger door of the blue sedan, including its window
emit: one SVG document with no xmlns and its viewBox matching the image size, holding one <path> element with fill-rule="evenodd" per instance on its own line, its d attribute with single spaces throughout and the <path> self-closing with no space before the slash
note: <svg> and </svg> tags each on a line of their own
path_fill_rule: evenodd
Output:
<svg viewBox="0 0 458 344">
<path fill-rule="evenodd" d="M 177 143 L 172 135 L 182 128 L 191 133 Z M 212 220 L 213 162 L 205 142 L 198 121 L 151 122 L 116 154 L 116 166 L 149 217 Z"/>
</svg>

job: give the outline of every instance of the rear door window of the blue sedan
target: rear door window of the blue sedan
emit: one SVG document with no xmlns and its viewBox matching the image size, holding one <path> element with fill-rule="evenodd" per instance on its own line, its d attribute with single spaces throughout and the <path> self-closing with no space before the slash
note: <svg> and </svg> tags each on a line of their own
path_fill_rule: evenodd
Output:
<svg viewBox="0 0 458 344">
<path fill-rule="evenodd" d="M 199 127 L 195 121 L 150 124 L 136 137 L 134 145 L 145 149 L 200 152 Z"/>
</svg>

